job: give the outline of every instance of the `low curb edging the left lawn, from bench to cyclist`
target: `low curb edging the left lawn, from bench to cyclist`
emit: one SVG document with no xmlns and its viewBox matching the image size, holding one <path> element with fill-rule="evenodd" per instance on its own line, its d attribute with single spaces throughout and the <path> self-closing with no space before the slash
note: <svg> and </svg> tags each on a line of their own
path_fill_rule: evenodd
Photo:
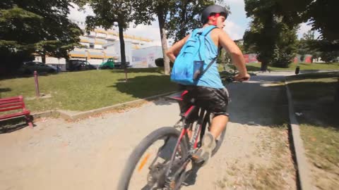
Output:
<svg viewBox="0 0 339 190">
<path fill-rule="evenodd" d="M 149 97 L 146 97 L 145 99 L 138 99 L 138 100 L 135 100 L 135 101 L 118 103 L 118 104 L 115 104 L 113 106 L 107 106 L 107 107 L 104 107 L 104 108 L 87 110 L 87 111 L 84 111 L 84 112 L 81 112 L 81 113 L 70 114 L 70 113 L 67 113 L 65 110 L 48 110 L 48 111 L 45 111 L 45 112 L 32 113 L 31 115 L 33 116 L 34 119 L 60 116 L 61 118 L 64 118 L 64 120 L 75 121 L 75 120 L 78 120 L 78 119 L 87 118 L 90 115 L 96 115 L 96 114 L 99 114 L 99 113 L 103 113 L 105 111 L 114 110 L 114 109 L 121 108 L 121 107 L 124 107 L 124 106 L 131 106 L 133 104 L 143 103 L 145 101 L 153 101 L 153 100 L 158 99 L 162 96 L 174 94 L 175 92 L 177 92 L 177 91 L 171 91 L 171 92 L 167 92 L 167 93 L 164 93 L 164 94 L 149 96 Z"/>
</svg>

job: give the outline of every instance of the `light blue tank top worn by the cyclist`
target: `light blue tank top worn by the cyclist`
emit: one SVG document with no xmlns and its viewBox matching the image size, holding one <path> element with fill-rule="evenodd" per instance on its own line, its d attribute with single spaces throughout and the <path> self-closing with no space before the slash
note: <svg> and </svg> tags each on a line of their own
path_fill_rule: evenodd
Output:
<svg viewBox="0 0 339 190">
<path fill-rule="evenodd" d="M 214 26 L 204 27 L 204 28 L 201 28 L 201 30 L 208 30 L 209 27 L 214 27 Z M 206 36 L 206 40 L 205 40 L 206 53 L 205 53 L 205 58 L 203 60 L 204 61 L 203 69 L 206 69 L 210 61 L 212 61 L 213 58 L 218 56 L 218 46 L 215 46 L 213 39 L 210 37 L 210 33 Z M 214 89 L 225 88 L 221 82 L 219 71 L 218 71 L 218 64 L 216 63 L 216 61 L 200 77 L 196 85 L 203 86 L 203 87 L 210 87 Z"/>
</svg>

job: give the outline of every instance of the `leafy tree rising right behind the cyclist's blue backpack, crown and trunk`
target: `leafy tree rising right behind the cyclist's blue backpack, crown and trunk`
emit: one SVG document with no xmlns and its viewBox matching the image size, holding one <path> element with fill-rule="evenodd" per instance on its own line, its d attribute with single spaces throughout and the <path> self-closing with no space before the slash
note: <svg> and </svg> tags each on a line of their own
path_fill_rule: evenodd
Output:
<svg viewBox="0 0 339 190">
<path fill-rule="evenodd" d="M 198 15 L 205 6 L 210 4 L 213 4 L 213 1 L 144 0 L 135 4 L 138 7 L 136 18 L 142 15 L 147 20 L 154 20 L 154 16 L 156 16 L 159 21 L 165 75 L 169 75 L 169 58 L 165 56 L 167 37 L 173 37 L 177 41 L 185 37 L 190 30 L 201 26 Z"/>
</svg>

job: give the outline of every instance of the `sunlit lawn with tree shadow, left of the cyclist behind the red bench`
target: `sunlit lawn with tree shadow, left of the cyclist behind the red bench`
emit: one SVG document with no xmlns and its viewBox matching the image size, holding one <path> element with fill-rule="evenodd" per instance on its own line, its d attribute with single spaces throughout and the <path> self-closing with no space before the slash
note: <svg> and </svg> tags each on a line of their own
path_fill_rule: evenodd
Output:
<svg viewBox="0 0 339 190">
<path fill-rule="evenodd" d="M 33 77 L 1 80 L 0 92 L 1 98 L 23 95 L 31 111 L 57 108 L 92 110 L 174 91 L 176 85 L 161 71 L 158 68 L 129 69 L 129 82 L 124 82 L 123 70 L 90 70 L 40 76 L 40 94 L 50 95 L 47 99 L 33 99 Z"/>
</svg>

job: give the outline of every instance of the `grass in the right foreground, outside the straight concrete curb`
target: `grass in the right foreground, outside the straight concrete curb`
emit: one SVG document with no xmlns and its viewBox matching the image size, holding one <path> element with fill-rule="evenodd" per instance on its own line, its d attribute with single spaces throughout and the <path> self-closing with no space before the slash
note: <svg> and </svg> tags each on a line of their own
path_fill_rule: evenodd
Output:
<svg viewBox="0 0 339 190">
<path fill-rule="evenodd" d="M 288 77 L 315 185 L 335 189 L 339 183 L 339 103 L 334 96 L 339 72 Z M 326 177 L 321 177 L 326 176 Z"/>
</svg>

